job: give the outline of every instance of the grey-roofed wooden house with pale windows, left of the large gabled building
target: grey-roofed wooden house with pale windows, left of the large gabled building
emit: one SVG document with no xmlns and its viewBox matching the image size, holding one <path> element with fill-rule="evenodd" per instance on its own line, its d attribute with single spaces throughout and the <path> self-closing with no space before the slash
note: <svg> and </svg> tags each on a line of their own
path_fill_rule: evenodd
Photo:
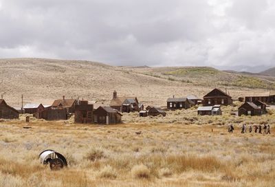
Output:
<svg viewBox="0 0 275 187">
<path fill-rule="evenodd" d="M 188 98 L 168 98 L 167 109 L 175 110 L 175 109 L 189 109 L 192 107 L 192 102 L 188 100 Z"/>
</svg>

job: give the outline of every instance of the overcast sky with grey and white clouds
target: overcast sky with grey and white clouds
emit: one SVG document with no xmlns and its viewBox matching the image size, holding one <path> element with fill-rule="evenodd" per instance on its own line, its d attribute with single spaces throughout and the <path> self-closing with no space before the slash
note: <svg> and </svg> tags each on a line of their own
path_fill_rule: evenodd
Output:
<svg viewBox="0 0 275 187">
<path fill-rule="evenodd" d="M 0 58 L 151 66 L 275 62 L 274 0 L 0 0 L 0 25 Z"/>
</svg>

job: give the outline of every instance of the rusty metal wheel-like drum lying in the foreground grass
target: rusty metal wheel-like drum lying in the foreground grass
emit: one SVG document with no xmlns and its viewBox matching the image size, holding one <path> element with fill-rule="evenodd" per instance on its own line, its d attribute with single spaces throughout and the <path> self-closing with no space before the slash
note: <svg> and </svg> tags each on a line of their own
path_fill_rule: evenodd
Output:
<svg viewBox="0 0 275 187">
<path fill-rule="evenodd" d="M 50 164 L 51 170 L 60 170 L 67 166 L 67 160 L 61 153 L 47 149 L 39 154 L 41 164 Z"/>
</svg>

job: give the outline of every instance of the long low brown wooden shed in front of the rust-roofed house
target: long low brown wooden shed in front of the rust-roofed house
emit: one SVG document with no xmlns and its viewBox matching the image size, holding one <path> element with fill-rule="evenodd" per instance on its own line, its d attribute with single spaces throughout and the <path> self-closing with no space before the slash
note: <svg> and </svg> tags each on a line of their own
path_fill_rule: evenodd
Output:
<svg viewBox="0 0 275 187">
<path fill-rule="evenodd" d="M 47 107 L 43 111 L 37 111 L 33 114 L 37 119 L 44 120 L 67 120 L 67 109 L 63 107 Z"/>
</svg>

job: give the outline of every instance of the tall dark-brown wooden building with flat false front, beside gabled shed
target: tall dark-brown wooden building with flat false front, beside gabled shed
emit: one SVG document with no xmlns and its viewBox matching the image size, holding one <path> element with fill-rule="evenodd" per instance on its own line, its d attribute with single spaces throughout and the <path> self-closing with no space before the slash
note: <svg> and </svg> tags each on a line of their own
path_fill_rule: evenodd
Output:
<svg viewBox="0 0 275 187">
<path fill-rule="evenodd" d="M 76 111 L 74 115 L 75 123 L 91 124 L 94 122 L 94 104 L 89 104 L 87 100 L 80 100 L 76 104 Z"/>
</svg>

